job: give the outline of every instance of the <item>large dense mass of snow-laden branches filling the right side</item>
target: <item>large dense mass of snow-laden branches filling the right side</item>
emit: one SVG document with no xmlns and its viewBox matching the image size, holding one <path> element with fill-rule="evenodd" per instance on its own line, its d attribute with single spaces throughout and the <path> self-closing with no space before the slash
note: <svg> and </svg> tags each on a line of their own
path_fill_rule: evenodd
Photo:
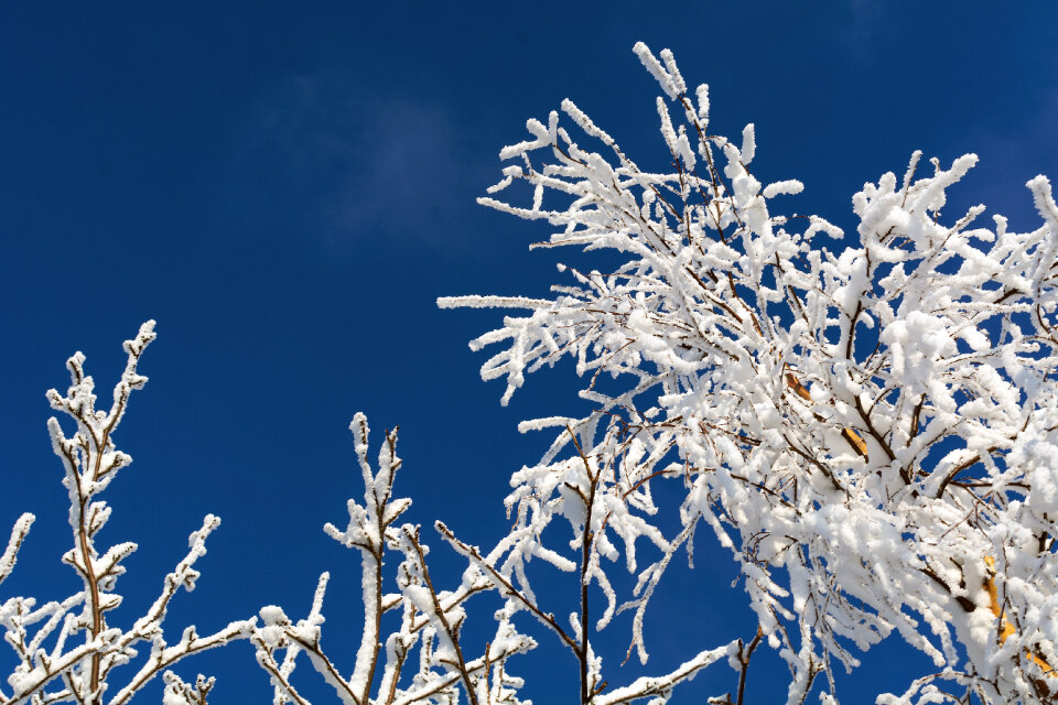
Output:
<svg viewBox="0 0 1058 705">
<path fill-rule="evenodd" d="M 859 242 L 832 252 L 814 236 L 838 238 L 838 228 L 784 215 L 799 182 L 765 185 L 751 173 L 753 126 L 736 141 L 710 132 L 708 89 L 690 93 L 670 52 L 635 51 L 666 96 L 657 110 L 671 170 L 644 171 L 566 100 L 563 116 L 529 120 L 530 139 L 504 148 L 512 164 L 481 199 L 548 223 L 540 247 L 611 250 L 620 263 L 605 273 L 560 265 L 566 281 L 549 300 L 439 300 L 526 311 L 471 344 L 499 346 L 482 377 L 506 380 L 503 403 L 527 373 L 568 356 L 595 405 L 581 419 L 523 424 L 559 431 L 540 463 L 512 477 L 515 531 L 482 565 L 526 600 L 530 556 L 580 570 L 608 605 L 595 628 L 631 610 L 631 643 L 646 660 L 655 586 L 704 525 L 731 550 L 763 639 L 789 665 L 789 703 L 803 702 L 820 673 L 824 699 L 836 702 L 834 665 L 854 668 L 857 652 L 894 632 L 937 673 L 881 702 L 940 702 L 942 691 L 1050 702 L 1049 182 L 1027 184 L 1043 219 L 1033 230 L 984 221 L 984 206 L 951 218 L 947 192 L 976 158 L 922 169 L 916 152 L 902 180 L 885 174 L 854 196 Z M 530 205 L 503 198 L 515 182 L 531 188 Z M 569 205 L 549 209 L 551 198 Z M 674 535 L 662 533 L 670 524 L 652 499 L 665 481 L 683 488 Z M 544 545 L 555 519 L 572 528 L 583 561 Z M 660 557 L 644 565 L 646 544 Z M 638 581 L 623 603 L 606 577 L 618 560 Z M 587 627 L 573 627 L 581 641 Z"/>
</svg>

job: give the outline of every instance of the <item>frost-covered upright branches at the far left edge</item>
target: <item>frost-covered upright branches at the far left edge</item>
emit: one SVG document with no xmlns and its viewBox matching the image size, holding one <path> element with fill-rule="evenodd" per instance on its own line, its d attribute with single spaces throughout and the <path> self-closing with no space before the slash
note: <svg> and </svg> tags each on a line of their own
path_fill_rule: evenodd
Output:
<svg viewBox="0 0 1058 705">
<path fill-rule="evenodd" d="M 80 352 L 66 362 L 72 380 L 66 395 L 55 390 L 47 392 L 52 409 L 66 414 L 76 426 L 75 433 L 67 437 L 58 420 L 53 417 L 47 423 L 52 447 L 66 470 L 63 485 L 69 496 L 73 547 L 63 556 L 63 562 L 74 568 L 80 585 L 61 601 L 37 605 L 32 597 L 10 597 L 0 604 L 4 641 L 13 650 L 17 662 L 6 679 L 7 687 L 0 686 L 0 705 L 66 702 L 121 705 L 184 657 L 240 638 L 249 628 L 250 622 L 237 621 L 216 633 L 199 637 L 194 627 L 186 627 L 172 644 L 163 633 L 169 601 L 181 587 L 188 592 L 195 587 L 198 577 L 195 563 L 206 553 L 206 538 L 220 523 L 212 514 L 205 518 L 202 529 L 191 534 L 187 555 L 165 576 L 147 614 L 128 628 L 109 623 L 110 610 L 121 604 L 121 595 L 115 590 L 118 577 L 125 573 L 122 561 L 136 551 L 136 544 L 98 545 L 99 532 L 110 518 L 110 507 L 100 495 L 118 470 L 132 462 L 116 448 L 114 432 L 128 408 L 129 395 L 147 382 L 137 366 L 153 339 L 154 322 L 149 321 L 134 339 L 126 340 L 128 362 L 114 389 L 109 410 L 96 409 L 94 383 L 91 377 L 85 375 L 85 356 Z M 8 547 L 0 556 L 0 582 L 14 567 L 32 521 L 32 514 L 23 514 L 15 523 Z M 136 670 L 119 669 L 136 660 L 140 646 L 148 650 L 147 658 L 141 659 L 142 665 Z M 195 688 L 185 684 L 175 686 L 183 682 L 171 673 L 166 672 L 165 679 L 170 684 L 166 705 L 205 705 L 212 679 L 206 682 L 199 676 Z M 171 688 L 175 690 L 171 693 Z M 173 699 L 179 693 L 192 699 Z"/>
</svg>

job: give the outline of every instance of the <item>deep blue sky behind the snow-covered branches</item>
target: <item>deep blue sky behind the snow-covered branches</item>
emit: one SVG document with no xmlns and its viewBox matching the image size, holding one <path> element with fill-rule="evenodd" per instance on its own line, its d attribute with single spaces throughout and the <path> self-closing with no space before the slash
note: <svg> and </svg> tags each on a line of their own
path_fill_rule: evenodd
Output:
<svg viewBox="0 0 1058 705">
<path fill-rule="evenodd" d="M 358 558 L 320 527 L 344 527 L 358 490 L 348 420 L 401 425 L 412 520 L 443 518 L 483 546 L 500 535 L 507 477 L 549 441 L 516 424 L 569 413 L 575 380 L 568 366 L 542 373 L 500 409 L 501 383 L 481 382 L 485 358 L 466 348 L 499 314 L 434 300 L 538 294 L 555 279 L 557 254 L 527 250 L 543 226 L 474 203 L 526 118 L 570 97 L 634 158 L 660 161 L 636 40 L 710 84 L 719 130 L 756 123 L 762 181 L 803 181 L 794 208 L 853 231 L 852 194 L 915 149 L 978 152 L 952 214 L 984 202 L 1013 227 L 1036 224 L 1025 181 L 1058 177 L 1058 6 L 1043 0 L 61 4 L 0 10 L 0 530 L 39 516 L 2 596 L 75 586 L 58 563 L 68 530 L 44 391 L 65 390 L 80 349 L 108 397 L 121 340 L 156 318 L 151 381 L 117 434 L 136 462 L 102 536 L 141 546 L 115 620 L 139 614 L 214 512 L 224 525 L 172 626 L 205 632 L 269 603 L 301 616 L 331 570 L 325 643 L 345 671 Z M 431 543 L 439 573 L 456 575 Z M 677 642 L 752 634 L 730 561 L 701 555 L 650 612 L 658 672 L 687 655 Z M 920 664 L 905 653 L 873 657 L 846 702 L 900 688 Z M 196 668 L 219 676 L 217 704 L 268 698 L 246 646 L 181 672 Z M 774 661 L 757 668 L 749 695 L 774 702 L 785 679 Z M 527 691 L 539 703 L 575 699 L 554 641 L 515 670 L 548 674 Z M 734 674 L 716 665 L 687 687 L 676 702 L 731 690 Z"/>
</svg>

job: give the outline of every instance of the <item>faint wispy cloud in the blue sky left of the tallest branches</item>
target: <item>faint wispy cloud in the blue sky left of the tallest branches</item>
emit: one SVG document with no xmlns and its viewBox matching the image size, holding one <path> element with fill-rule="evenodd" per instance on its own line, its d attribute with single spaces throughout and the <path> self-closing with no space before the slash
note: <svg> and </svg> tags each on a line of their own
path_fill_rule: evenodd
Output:
<svg viewBox="0 0 1058 705">
<path fill-rule="evenodd" d="M 483 167 L 461 142 L 438 106 L 335 76 L 292 77 L 249 119 L 229 200 L 250 228 L 309 228 L 331 247 L 381 235 L 449 239 L 452 212 L 487 180 L 469 178 Z"/>
</svg>

